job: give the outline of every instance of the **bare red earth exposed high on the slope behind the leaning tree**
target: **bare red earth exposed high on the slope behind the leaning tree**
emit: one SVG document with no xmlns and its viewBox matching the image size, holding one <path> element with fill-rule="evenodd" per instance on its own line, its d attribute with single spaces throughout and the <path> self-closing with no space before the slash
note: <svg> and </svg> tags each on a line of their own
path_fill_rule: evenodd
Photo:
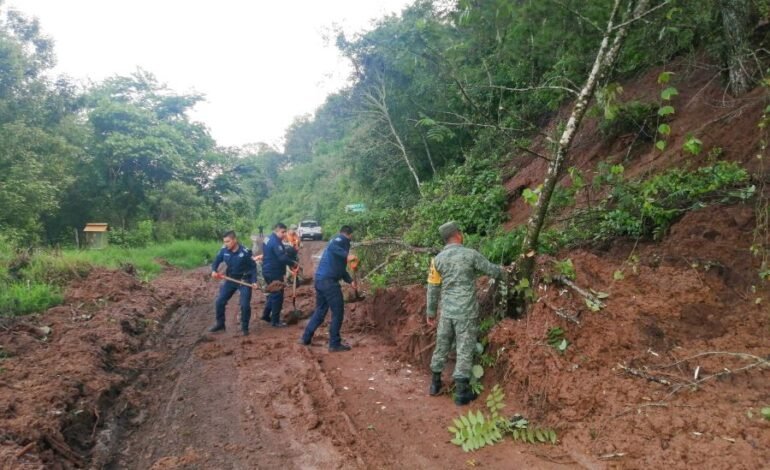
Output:
<svg viewBox="0 0 770 470">
<path fill-rule="evenodd" d="M 679 95 L 671 101 L 676 113 L 669 122 L 671 135 L 663 152 L 658 151 L 652 142 L 637 141 L 635 133 L 605 139 L 600 133 L 598 118 L 589 116 L 583 120 L 575 136 L 567 166 L 579 169 L 587 181 L 591 180 L 601 162 L 620 163 L 627 178 L 641 178 L 672 167 L 697 168 L 706 165 L 708 153 L 719 148 L 720 159 L 740 162 L 750 172 L 756 171 L 760 163 L 756 154 L 761 138 L 757 123 L 767 105 L 766 90 L 757 87 L 740 99 L 733 99 L 725 93 L 715 67 L 708 64 L 695 67 L 681 61 L 665 68 L 652 69 L 639 78 L 623 83 L 624 91 L 619 100 L 659 103 L 662 85 L 657 83 L 657 79 L 664 70 L 675 72 L 670 85 L 677 88 Z M 569 116 L 571 106 L 564 106 L 544 132 L 553 134 L 557 124 Z M 682 150 L 688 135 L 703 142 L 704 150 L 699 156 Z M 632 151 L 629 151 L 632 146 Z M 535 142 L 535 147 L 541 153 L 547 152 L 542 139 Z M 510 170 L 515 174 L 505 182 L 511 201 L 508 228 L 526 223 L 530 207 L 518 196 L 525 188 L 534 189 L 543 182 L 547 164 L 547 161 L 528 153 L 512 155 Z M 560 181 L 562 185 L 569 183 L 568 175 Z"/>
</svg>

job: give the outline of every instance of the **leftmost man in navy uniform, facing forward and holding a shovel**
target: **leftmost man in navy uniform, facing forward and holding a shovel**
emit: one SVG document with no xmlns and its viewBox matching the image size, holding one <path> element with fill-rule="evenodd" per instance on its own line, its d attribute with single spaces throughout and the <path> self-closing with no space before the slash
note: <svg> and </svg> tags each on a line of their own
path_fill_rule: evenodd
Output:
<svg viewBox="0 0 770 470">
<path fill-rule="evenodd" d="M 216 333 L 225 330 L 225 307 L 235 291 L 238 291 L 241 305 L 241 332 L 247 336 L 249 320 L 251 320 L 251 290 L 259 287 L 257 265 L 252 258 L 251 250 L 238 243 L 235 232 L 231 230 L 225 233 L 223 242 L 224 246 L 211 264 L 211 277 L 222 279 L 224 282 L 219 287 L 219 296 L 214 304 L 217 322 L 209 328 L 209 331 Z M 225 274 L 217 272 L 221 263 L 227 265 Z"/>
</svg>

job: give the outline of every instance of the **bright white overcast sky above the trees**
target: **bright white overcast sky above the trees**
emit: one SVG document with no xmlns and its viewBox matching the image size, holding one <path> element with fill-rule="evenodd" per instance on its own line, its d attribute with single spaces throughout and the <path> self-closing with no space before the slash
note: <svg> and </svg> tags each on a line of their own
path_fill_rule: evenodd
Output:
<svg viewBox="0 0 770 470">
<path fill-rule="evenodd" d="M 324 40 L 410 0 L 6 0 L 56 41 L 56 73 L 101 80 L 137 67 L 206 95 L 193 117 L 222 145 L 279 145 L 295 116 L 342 87 L 349 64 Z"/>
</svg>

